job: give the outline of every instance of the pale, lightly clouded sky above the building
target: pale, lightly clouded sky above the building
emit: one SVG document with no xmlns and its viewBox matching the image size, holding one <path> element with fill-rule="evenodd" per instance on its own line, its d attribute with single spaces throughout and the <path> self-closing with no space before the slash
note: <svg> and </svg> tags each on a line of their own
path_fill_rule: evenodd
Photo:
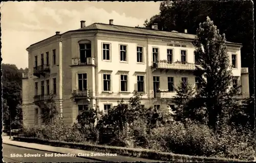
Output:
<svg viewBox="0 0 256 163">
<path fill-rule="evenodd" d="M 29 45 L 95 22 L 143 26 L 159 14 L 160 2 L 1 2 L 2 63 L 28 67 Z"/>
</svg>

